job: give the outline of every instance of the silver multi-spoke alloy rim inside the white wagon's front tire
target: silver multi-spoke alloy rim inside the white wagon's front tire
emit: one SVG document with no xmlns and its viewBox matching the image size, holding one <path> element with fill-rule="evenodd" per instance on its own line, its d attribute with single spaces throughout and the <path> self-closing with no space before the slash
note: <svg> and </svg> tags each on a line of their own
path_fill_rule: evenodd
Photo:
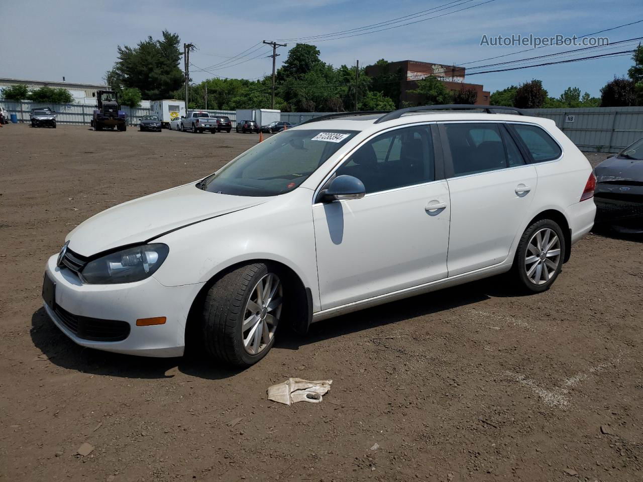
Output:
<svg viewBox="0 0 643 482">
<path fill-rule="evenodd" d="M 282 311 L 284 290 L 278 276 L 267 273 L 252 289 L 244 310 L 241 326 L 243 345 L 251 355 L 257 355 L 269 345 Z"/>
</svg>

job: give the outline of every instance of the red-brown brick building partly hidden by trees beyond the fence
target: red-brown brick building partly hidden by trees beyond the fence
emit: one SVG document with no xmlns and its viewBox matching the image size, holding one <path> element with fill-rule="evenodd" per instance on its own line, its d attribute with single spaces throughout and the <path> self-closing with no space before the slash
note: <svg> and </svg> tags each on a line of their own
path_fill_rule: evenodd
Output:
<svg viewBox="0 0 643 482">
<path fill-rule="evenodd" d="M 368 66 L 366 75 L 376 77 L 383 73 L 395 73 L 397 69 L 401 70 L 402 80 L 400 81 L 400 105 L 403 102 L 410 102 L 417 105 L 421 102 L 421 96 L 412 94 L 409 91 L 417 89 L 417 81 L 430 75 L 444 80 L 447 89 L 450 91 L 459 91 L 460 89 L 474 89 L 478 98 L 476 104 L 489 105 L 489 91 L 485 91 L 480 84 L 469 84 L 464 82 L 466 69 L 458 66 L 445 66 L 442 64 L 431 64 L 431 62 L 418 62 L 417 60 L 401 60 L 399 62 L 390 62 L 386 66 Z M 395 99 L 394 99 L 395 101 Z"/>
</svg>

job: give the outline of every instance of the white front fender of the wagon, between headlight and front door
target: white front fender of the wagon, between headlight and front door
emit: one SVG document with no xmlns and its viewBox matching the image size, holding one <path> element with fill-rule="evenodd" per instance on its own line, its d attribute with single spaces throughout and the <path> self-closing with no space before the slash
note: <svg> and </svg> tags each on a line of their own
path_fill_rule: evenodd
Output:
<svg viewBox="0 0 643 482">
<path fill-rule="evenodd" d="M 313 310 L 320 309 L 310 190 L 299 188 L 155 241 L 170 247 L 154 273 L 165 286 L 203 283 L 232 265 L 271 260 L 295 272 L 311 290 Z"/>
</svg>

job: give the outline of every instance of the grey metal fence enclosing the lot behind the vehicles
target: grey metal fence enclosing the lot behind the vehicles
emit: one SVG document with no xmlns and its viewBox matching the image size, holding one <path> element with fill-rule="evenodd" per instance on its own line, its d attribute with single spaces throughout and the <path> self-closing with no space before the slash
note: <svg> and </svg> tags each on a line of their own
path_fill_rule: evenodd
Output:
<svg viewBox="0 0 643 482">
<path fill-rule="evenodd" d="M 0 102 L 10 114 L 16 114 L 19 122 L 28 122 L 30 111 L 39 107 L 51 107 L 57 112 L 57 122 L 64 124 L 89 124 L 93 104 L 51 105 L 37 102 Z M 127 123 L 137 125 L 150 109 L 122 107 L 127 114 Z M 206 112 L 228 116 L 232 127 L 237 125 L 237 112 Z M 581 150 L 589 152 L 617 152 L 643 137 L 643 107 L 593 107 L 588 109 L 527 109 L 532 116 L 556 121 L 559 129 L 572 139 Z M 282 112 L 281 120 L 298 124 L 332 112 Z"/>
</svg>

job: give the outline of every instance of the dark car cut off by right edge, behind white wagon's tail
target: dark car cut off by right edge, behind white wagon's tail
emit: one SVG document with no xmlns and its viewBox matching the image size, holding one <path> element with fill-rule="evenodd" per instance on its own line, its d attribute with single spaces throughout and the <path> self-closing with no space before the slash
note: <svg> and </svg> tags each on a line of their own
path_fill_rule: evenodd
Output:
<svg viewBox="0 0 643 482">
<path fill-rule="evenodd" d="M 643 233 L 643 139 L 594 168 L 597 226 Z"/>
</svg>

